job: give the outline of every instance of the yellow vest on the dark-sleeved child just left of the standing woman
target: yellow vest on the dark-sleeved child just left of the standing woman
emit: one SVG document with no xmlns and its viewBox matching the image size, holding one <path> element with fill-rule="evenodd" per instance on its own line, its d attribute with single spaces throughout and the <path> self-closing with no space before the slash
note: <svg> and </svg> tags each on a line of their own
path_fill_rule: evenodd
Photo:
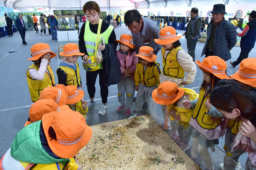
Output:
<svg viewBox="0 0 256 170">
<path fill-rule="evenodd" d="M 67 84 L 79 87 L 81 84 L 79 65 L 76 61 L 76 70 L 71 69 L 67 66 L 59 66 L 67 75 Z M 58 69 L 57 69 L 58 70 Z M 57 71 L 56 71 L 57 72 Z M 57 72 L 58 73 L 58 72 Z"/>
</svg>

